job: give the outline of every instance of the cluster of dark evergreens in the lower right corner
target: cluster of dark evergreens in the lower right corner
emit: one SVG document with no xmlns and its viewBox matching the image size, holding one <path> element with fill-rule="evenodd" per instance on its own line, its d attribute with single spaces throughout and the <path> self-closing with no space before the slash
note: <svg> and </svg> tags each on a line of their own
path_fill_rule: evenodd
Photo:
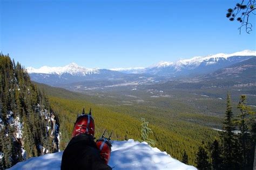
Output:
<svg viewBox="0 0 256 170">
<path fill-rule="evenodd" d="M 220 138 L 198 147 L 198 169 L 253 169 L 256 140 L 255 112 L 246 105 L 246 95 L 241 95 L 234 116 L 230 94 L 227 94 L 225 121 Z"/>
</svg>

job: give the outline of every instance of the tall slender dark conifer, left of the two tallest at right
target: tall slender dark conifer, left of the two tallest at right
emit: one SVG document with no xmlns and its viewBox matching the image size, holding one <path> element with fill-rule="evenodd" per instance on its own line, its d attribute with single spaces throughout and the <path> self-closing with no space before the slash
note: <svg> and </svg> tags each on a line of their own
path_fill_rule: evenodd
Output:
<svg viewBox="0 0 256 170">
<path fill-rule="evenodd" d="M 227 109 L 225 112 L 225 121 L 223 123 L 223 132 L 221 132 L 221 139 L 223 140 L 223 163 L 225 169 L 234 169 L 234 136 L 235 126 L 233 123 L 233 112 L 231 106 L 230 93 L 227 93 Z"/>
</svg>

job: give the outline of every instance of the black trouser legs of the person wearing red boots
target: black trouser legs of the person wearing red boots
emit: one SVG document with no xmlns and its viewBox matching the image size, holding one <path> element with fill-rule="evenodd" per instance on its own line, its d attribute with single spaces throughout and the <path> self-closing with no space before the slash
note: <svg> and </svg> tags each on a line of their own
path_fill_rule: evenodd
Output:
<svg viewBox="0 0 256 170">
<path fill-rule="evenodd" d="M 104 164 L 92 136 L 79 134 L 73 137 L 62 155 L 61 169 L 112 169 Z"/>
</svg>

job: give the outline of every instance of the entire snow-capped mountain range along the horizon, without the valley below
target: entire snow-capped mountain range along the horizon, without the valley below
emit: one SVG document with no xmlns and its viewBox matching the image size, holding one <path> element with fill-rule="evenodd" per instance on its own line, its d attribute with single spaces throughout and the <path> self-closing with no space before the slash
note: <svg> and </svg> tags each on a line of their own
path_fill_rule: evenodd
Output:
<svg viewBox="0 0 256 170">
<path fill-rule="evenodd" d="M 208 56 L 195 56 L 191 59 L 179 60 L 175 62 L 160 61 L 156 65 L 150 67 L 137 67 L 137 68 L 112 68 L 112 69 L 98 69 L 98 68 L 85 68 L 78 66 L 72 62 L 64 67 L 48 67 L 43 66 L 41 68 L 28 67 L 28 73 L 41 73 L 41 74 L 70 74 L 73 76 L 88 76 L 93 74 L 101 74 L 102 70 L 130 73 L 130 74 L 153 74 L 160 76 L 178 76 L 197 74 L 200 72 L 214 71 L 220 68 L 224 68 L 234 63 L 238 63 L 252 56 L 256 56 L 256 51 L 244 50 L 241 52 L 235 52 L 232 54 L 214 54 Z"/>
</svg>

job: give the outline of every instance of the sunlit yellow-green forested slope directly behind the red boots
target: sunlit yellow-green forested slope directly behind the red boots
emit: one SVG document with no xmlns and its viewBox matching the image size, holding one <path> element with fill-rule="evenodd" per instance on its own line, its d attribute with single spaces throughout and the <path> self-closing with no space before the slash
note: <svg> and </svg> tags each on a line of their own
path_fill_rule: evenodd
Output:
<svg viewBox="0 0 256 170">
<path fill-rule="evenodd" d="M 113 140 L 127 138 L 140 140 L 142 122 L 139 120 L 144 117 L 150 122 L 149 125 L 153 131 L 150 138 L 157 141 L 156 147 L 178 160 L 182 159 L 185 150 L 190 165 L 196 165 L 195 153 L 201 141 L 207 140 L 208 136 L 218 137 L 217 131 L 194 122 L 187 122 L 186 119 L 180 119 L 180 114 L 172 114 L 169 110 L 119 105 L 114 104 L 114 100 L 110 97 L 105 98 L 97 94 L 83 95 L 45 84 L 37 85 L 49 95 L 52 109 L 59 113 L 60 131 L 62 132 L 60 150 L 64 150 L 68 144 L 73 123 L 82 108 L 86 110 L 92 108 L 92 116 L 96 124 L 95 136 L 99 137 L 107 129 L 107 131 L 113 131 Z M 99 102 L 101 104 L 98 104 Z M 189 116 L 186 118 L 191 119 Z M 207 117 L 208 122 L 209 119 Z"/>
</svg>

